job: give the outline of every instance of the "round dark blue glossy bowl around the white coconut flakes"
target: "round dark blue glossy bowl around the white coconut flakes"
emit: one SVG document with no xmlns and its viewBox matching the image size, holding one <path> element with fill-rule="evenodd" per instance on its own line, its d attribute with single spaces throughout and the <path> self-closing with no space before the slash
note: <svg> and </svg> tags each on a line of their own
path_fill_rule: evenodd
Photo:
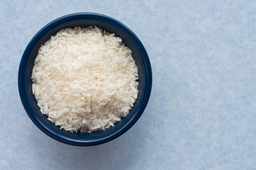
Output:
<svg viewBox="0 0 256 170">
<path fill-rule="evenodd" d="M 114 124 L 114 127 L 99 132 L 78 132 L 72 133 L 65 130 L 60 130 L 59 126 L 51 123 L 46 115 L 43 115 L 37 105 L 36 98 L 32 93 L 31 73 L 33 62 L 36 59 L 39 47 L 46 42 L 51 35 L 55 35 L 63 28 L 74 28 L 75 26 L 89 27 L 97 26 L 106 30 L 109 33 L 115 33 L 122 38 L 123 42 L 130 50 L 139 71 L 139 94 L 134 107 L 129 111 L 129 114 L 122 118 L 121 121 Z M 73 13 L 67 16 L 60 17 L 48 23 L 45 27 L 39 30 L 38 33 L 28 43 L 26 50 L 21 58 L 21 63 L 18 69 L 18 91 L 29 118 L 35 125 L 41 129 L 46 135 L 60 142 L 77 145 L 77 146 L 92 146 L 99 145 L 110 140 L 114 140 L 137 122 L 142 115 L 146 104 L 149 101 L 152 86 L 152 72 L 149 57 L 146 53 L 142 42 L 137 38 L 132 30 L 124 26 L 123 23 L 104 16 L 98 13 Z"/>
</svg>

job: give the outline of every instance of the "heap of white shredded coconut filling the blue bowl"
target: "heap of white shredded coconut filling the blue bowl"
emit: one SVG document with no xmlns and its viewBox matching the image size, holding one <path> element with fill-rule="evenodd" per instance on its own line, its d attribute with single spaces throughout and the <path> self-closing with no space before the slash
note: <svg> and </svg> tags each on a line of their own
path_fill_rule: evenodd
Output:
<svg viewBox="0 0 256 170">
<path fill-rule="evenodd" d="M 70 132 L 105 130 L 137 99 L 132 51 L 97 27 L 65 28 L 38 50 L 33 94 L 48 120 Z"/>
</svg>

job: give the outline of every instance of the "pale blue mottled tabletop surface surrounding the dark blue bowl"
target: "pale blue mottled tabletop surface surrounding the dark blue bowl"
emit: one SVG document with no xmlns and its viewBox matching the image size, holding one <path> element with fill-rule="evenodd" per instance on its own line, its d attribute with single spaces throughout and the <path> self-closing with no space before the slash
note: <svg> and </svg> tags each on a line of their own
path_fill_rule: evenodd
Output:
<svg viewBox="0 0 256 170">
<path fill-rule="evenodd" d="M 142 40 L 153 70 L 139 121 L 74 147 L 33 125 L 17 86 L 33 35 L 96 12 Z M 256 169 L 256 1 L 0 1 L 0 169 Z"/>
</svg>

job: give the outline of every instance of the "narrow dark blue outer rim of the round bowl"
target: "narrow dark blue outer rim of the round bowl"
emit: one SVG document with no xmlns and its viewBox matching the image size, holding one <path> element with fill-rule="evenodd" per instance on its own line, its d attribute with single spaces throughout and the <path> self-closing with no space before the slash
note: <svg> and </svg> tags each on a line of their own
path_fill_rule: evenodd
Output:
<svg viewBox="0 0 256 170">
<path fill-rule="evenodd" d="M 46 125 L 43 125 L 38 118 L 36 118 L 35 115 L 33 115 L 33 111 L 31 110 L 31 106 L 29 105 L 28 101 L 26 100 L 26 92 L 25 92 L 25 87 L 23 85 L 23 79 L 22 73 L 24 70 L 24 67 L 26 66 L 26 61 L 31 53 L 31 50 L 33 49 L 34 45 L 38 40 L 43 36 L 48 30 L 51 28 L 58 26 L 60 23 L 65 23 L 67 21 L 73 21 L 75 19 L 80 19 L 83 17 L 88 17 L 88 16 L 97 16 L 100 18 L 107 18 L 110 21 L 113 21 L 114 23 L 118 24 L 119 26 L 122 26 L 126 31 L 128 31 L 133 38 L 136 40 L 139 46 L 139 50 L 142 52 L 143 60 L 145 62 L 145 70 L 146 70 L 146 88 L 145 92 L 143 94 L 143 102 L 142 104 L 139 105 L 139 111 L 134 114 L 134 116 L 129 120 L 129 122 L 124 125 L 120 130 L 117 130 L 117 132 L 114 132 L 113 134 L 107 136 L 107 137 L 102 137 L 100 140 L 73 140 L 71 138 L 65 137 L 63 135 L 59 135 L 53 130 L 50 130 Z M 146 105 L 149 101 L 149 96 L 151 94 L 151 88 L 152 88 L 152 70 L 151 70 L 151 64 L 149 61 L 149 56 L 147 55 L 146 49 L 144 48 L 144 45 L 142 45 L 141 40 L 135 35 L 135 33 L 130 30 L 127 26 L 125 26 L 123 23 L 120 21 L 117 21 L 116 19 L 110 17 L 110 16 L 105 16 L 100 13 L 87 13 L 87 12 L 82 12 L 82 13 L 70 13 L 65 16 L 61 16 L 59 18 L 56 18 L 55 20 L 51 21 L 50 23 L 46 24 L 41 30 L 39 30 L 36 35 L 33 36 L 33 38 L 28 42 L 28 45 L 26 46 L 26 49 L 23 52 L 23 55 L 21 57 L 21 62 L 19 64 L 18 68 L 18 92 L 19 96 L 21 98 L 21 103 L 23 104 L 23 108 L 25 109 L 28 117 L 33 121 L 33 123 L 46 135 L 49 137 L 52 137 L 55 140 L 58 140 L 59 142 L 63 142 L 68 145 L 75 145 L 75 146 L 92 146 L 92 145 L 100 145 L 105 142 L 109 142 L 111 140 L 114 140 L 115 138 L 119 137 L 122 135 L 124 132 L 127 132 L 132 126 L 139 120 L 140 116 L 144 112 L 144 109 L 146 108 Z"/>
</svg>

